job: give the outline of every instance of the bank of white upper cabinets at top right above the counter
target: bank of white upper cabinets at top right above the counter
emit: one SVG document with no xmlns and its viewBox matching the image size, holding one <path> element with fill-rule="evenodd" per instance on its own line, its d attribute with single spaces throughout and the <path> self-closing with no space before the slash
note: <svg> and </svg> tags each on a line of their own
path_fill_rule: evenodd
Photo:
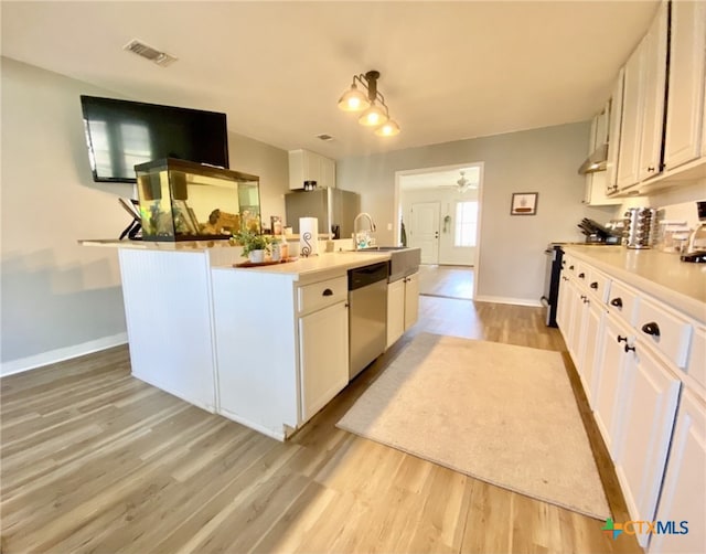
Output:
<svg viewBox="0 0 706 554">
<path fill-rule="evenodd" d="M 706 3 L 661 3 L 618 78 L 622 96 L 613 92 L 613 109 L 617 98 L 622 109 L 610 127 L 612 198 L 706 177 L 705 64 Z"/>
</svg>

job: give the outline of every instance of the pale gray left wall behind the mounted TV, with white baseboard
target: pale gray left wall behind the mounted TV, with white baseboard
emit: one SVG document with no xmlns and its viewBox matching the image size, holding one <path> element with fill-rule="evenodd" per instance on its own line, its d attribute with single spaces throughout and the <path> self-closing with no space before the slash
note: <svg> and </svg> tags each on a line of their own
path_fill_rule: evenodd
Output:
<svg viewBox="0 0 706 554">
<path fill-rule="evenodd" d="M 0 374 L 126 341 L 117 251 L 79 246 L 128 224 L 94 183 L 81 94 L 118 95 L 6 57 L 2 67 Z M 261 177 L 263 214 L 284 214 L 287 152 L 228 135 L 233 169 Z"/>
</svg>

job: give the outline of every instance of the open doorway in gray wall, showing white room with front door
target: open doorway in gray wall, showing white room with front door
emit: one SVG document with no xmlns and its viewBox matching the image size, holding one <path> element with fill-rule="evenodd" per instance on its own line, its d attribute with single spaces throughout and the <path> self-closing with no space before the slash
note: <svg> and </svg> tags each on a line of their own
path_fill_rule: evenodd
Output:
<svg viewBox="0 0 706 554">
<path fill-rule="evenodd" d="M 399 241 L 404 230 L 407 245 L 421 248 L 421 264 L 435 268 L 427 271 L 428 281 L 435 283 L 429 287 L 437 290 L 432 292 L 435 296 L 468 298 L 469 288 L 472 296 L 475 295 L 482 180 L 482 162 L 396 172 L 398 224 L 395 238 Z M 450 271 L 452 268 L 456 274 Z M 451 275 L 456 290 L 463 289 L 463 292 L 438 292 L 445 290 L 441 283 L 448 283 Z M 463 275 L 468 279 L 460 285 Z"/>
</svg>

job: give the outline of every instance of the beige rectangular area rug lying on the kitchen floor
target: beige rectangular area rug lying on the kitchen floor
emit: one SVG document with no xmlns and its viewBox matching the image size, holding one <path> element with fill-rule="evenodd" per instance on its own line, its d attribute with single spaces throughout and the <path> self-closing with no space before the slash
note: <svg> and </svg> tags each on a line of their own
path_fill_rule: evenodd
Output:
<svg viewBox="0 0 706 554">
<path fill-rule="evenodd" d="M 420 333 L 338 426 L 538 500 L 610 516 L 558 352 Z"/>
</svg>

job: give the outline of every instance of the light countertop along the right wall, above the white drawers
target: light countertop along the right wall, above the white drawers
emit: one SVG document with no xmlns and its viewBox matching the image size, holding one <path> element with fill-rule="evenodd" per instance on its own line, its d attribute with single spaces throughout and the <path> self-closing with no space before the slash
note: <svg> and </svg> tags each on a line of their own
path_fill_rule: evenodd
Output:
<svg viewBox="0 0 706 554">
<path fill-rule="evenodd" d="M 706 264 L 682 262 L 678 254 L 624 246 L 565 245 L 564 251 L 706 323 Z"/>
</svg>

